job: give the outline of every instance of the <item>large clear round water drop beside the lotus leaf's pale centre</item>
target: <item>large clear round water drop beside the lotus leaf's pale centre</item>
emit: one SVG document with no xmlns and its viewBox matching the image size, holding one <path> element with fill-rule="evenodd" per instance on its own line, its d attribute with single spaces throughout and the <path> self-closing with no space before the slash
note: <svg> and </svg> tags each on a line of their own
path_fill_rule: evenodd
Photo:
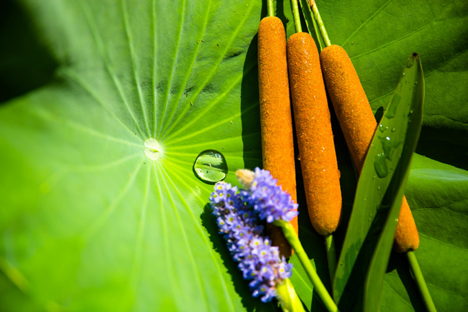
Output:
<svg viewBox="0 0 468 312">
<path fill-rule="evenodd" d="M 212 184 L 226 178 L 228 165 L 223 154 L 214 149 L 206 149 L 195 159 L 193 171 L 200 180 Z"/>
</svg>

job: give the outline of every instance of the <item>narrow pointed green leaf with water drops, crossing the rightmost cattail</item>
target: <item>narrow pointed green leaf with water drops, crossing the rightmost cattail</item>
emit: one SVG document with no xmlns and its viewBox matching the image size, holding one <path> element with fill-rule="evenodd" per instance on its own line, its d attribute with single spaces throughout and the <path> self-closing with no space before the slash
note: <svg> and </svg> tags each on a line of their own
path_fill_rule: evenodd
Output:
<svg viewBox="0 0 468 312">
<path fill-rule="evenodd" d="M 379 242 L 377 238 L 385 227 L 387 216 L 393 216 L 390 208 L 392 202 L 398 200 L 395 199 L 398 185 L 403 181 L 410 163 L 410 159 L 405 157 L 411 157 L 417 143 L 422 122 L 423 98 L 421 62 L 419 56 L 413 54 L 407 61 L 392 101 L 374 134 L 359 179 L 334 280 L 334 299 L 340 306 L 357 304 L 356 300 L 361 302 L 357 298 L 362 298 L 362 287 L 357 285 L 362 284 L 363 275 L 368 272 L 370 265 L 375 265 L 378 272 L 383 267 L 384 272 L 377 278 L 383 279 L 396 222 L 387 226 L 388 229 L 383 233 L 384 238 Z M 403 162 L 400 163 L 401 156 Z M 394 177 L 398 180 L 391 184 Z M 395 213 L 398 216 L 398 211 Z M 382 248 L 385 254 L 371 260 L 376 248 Z M 376 278 L 374 274 L 376 273 L 370 275 L 371 279 Z"/>
</svg>

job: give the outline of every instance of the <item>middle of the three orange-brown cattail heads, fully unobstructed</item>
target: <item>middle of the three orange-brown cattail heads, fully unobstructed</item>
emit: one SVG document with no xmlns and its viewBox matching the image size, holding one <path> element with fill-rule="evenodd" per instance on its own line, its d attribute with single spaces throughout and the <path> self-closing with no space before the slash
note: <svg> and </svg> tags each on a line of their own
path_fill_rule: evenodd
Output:
<svg viewBox="0 0 468 312">
<path fill-rule="evenodd" d="M 341 218 L 341 189 L 319 52 L 310 34 L 290 37 L 288 72 L 310 221 L 328 235 Z"/>
</svg>

